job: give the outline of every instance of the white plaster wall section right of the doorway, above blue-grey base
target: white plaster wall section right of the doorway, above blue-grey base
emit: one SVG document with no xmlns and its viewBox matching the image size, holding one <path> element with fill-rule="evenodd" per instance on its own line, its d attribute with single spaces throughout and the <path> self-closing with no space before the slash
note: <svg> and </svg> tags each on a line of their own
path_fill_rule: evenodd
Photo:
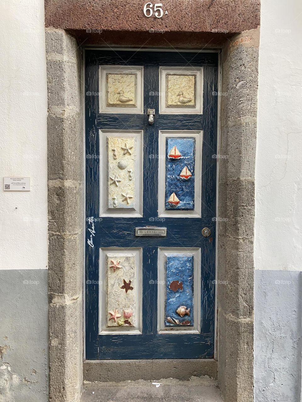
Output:
<svg viewBox="0 0 302 402">
<path fill-rule="evenodd" d="M 302 2 L 261 1 L 256 269 L 302 270 Z"/>
</svg>

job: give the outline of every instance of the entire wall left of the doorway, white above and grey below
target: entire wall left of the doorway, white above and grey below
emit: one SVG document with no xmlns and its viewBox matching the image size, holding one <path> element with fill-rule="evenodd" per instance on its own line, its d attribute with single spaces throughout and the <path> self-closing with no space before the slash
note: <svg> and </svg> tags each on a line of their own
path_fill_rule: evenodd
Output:
<svg viewBox="0 0 302 402">
<path fill-rule="evenodd" d="M 47 87 L 42 0 L 0 3 L 0 400 L 48 400 Z M 30 176 L 31 191 L 3 191 Z"/>
</svg>

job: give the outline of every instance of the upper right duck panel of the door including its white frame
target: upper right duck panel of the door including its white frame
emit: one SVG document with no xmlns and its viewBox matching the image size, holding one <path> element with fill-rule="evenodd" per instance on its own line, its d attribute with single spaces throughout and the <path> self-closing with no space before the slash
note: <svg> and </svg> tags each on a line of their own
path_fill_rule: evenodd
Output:
<svg viewBox="0 0 302 402">
<path fill-rule="evenodd" d="M 203 68 L 160 67 L 159 94 L 159 113 L 202 113 Z"/>
</svg>

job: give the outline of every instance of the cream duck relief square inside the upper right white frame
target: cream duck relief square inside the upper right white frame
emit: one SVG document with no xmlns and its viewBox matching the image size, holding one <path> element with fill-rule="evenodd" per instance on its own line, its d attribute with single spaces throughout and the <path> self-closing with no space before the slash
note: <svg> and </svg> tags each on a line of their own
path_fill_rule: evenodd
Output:
<svg viewBox="0 0 302 402">
<path fill-rule="evenodd" d="M 166 107 L 196 106 L 196 75 L 166 74 Z"/>
</svg>

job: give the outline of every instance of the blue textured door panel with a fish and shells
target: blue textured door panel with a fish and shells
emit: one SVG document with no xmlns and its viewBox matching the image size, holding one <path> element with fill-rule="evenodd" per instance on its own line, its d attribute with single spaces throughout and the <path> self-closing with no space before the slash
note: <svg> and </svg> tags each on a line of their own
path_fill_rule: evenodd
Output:
<svg viewBox="0 0 302 402">
<path fill-rule="evenodd" d="M 167 254 L 165 326 L 193 326 L 192 254 Z"/>
</svg>

